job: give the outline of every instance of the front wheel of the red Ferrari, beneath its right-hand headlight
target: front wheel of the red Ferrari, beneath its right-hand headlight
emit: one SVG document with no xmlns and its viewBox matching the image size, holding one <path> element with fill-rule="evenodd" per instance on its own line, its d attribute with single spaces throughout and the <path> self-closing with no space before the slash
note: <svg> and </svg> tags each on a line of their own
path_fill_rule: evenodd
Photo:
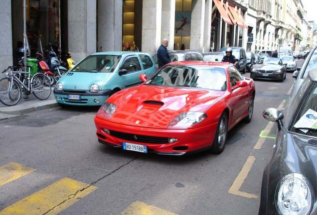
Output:
<svg viewBox="0 0 317 215">
<path fill-rule="evenodd" d="M 227 133 L 228 116 L 227 113 L 224 112 L 219 119 L 218 128 L 211 148 L 212 153 L 220 154 L 223 151 L 227 140 Z"/>
</svg>

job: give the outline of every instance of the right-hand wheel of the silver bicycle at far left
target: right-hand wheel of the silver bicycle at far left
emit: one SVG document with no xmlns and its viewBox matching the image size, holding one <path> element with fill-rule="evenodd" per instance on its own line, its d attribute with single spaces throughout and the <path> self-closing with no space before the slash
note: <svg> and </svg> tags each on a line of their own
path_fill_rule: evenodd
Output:
<svg viewBox="0 0 317 215">
<path fill-rule="evenodd" d="M 49 83 L 49 78 L 43 73 L 36 73 L 31 79 L 31 91 L 39 100 L 46 100 L 51 95 L 52 88 Z"/>
</svg>

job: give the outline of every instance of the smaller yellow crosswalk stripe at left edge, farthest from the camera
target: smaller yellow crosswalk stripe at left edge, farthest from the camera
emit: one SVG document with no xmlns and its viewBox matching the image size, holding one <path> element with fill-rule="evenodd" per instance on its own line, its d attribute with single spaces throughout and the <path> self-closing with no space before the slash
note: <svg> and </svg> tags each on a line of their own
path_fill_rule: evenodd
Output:
<svg viewBox="0 0 317 215">
<path fill-rule="evenodd" d="M 23 166 L 19 163 L 8 163 L 0 167 L 0 186 L 25 176 L 35 169 Z"/>
</svg>

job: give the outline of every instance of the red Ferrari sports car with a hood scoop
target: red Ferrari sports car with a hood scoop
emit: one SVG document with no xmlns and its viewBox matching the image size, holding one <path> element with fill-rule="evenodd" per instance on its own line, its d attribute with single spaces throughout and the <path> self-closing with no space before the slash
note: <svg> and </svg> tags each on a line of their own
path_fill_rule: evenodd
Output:
<svg viewBox="0 0 317 215">
<path fill-rule="evenodd" d="M 95 116 L 100 143 L 143 153 L 221 153 L 227 132 L 250 122 L 255 86 L 228 63 L 173 62 L 111 96 Z"/>
</svg>

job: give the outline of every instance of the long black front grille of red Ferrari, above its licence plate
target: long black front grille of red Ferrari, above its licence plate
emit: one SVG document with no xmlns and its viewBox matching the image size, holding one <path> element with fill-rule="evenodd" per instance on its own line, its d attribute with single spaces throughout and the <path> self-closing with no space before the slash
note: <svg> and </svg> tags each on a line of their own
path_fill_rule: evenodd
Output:
<svg viewBox="0 0 317 215">
<path fill-rule="evenodd" d="M 168 143 L 168 137 L 145 136 L 145 135 L 130 134 L 130 133 L 124 133 L 119 131 L 113 131 L 113 130 L 110 130 L 110 135 L 120 139 L 130 140 L 134 142 L 157 143 L 157 144 Z"/>
</svg>

